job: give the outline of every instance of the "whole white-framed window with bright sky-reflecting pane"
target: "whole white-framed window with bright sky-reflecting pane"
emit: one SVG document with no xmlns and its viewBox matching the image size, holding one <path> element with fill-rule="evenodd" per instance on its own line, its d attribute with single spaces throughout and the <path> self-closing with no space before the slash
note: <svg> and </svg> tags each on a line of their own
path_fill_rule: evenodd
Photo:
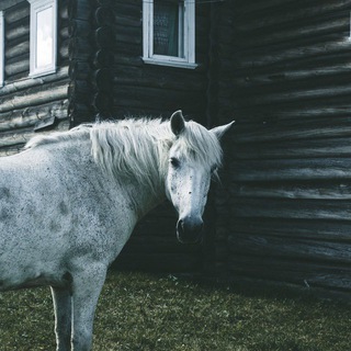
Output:
<svg viewBox="0 0 351 351">
<path fill-rule="evenodd" d="M 56 71 L 57 0 L 31 3 L 31 77 Z"/>
</svg>

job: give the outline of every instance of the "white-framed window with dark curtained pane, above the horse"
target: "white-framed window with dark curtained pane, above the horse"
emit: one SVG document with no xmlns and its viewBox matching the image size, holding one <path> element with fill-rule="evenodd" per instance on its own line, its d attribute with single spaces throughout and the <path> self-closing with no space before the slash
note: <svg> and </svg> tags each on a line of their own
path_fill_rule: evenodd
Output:
<svg viewBox="0 0 351 351">
<path fill-rule="evenodd" d="M 143 59 L 195 68 L 195 0 L 143 0 Z"/>
</svg>

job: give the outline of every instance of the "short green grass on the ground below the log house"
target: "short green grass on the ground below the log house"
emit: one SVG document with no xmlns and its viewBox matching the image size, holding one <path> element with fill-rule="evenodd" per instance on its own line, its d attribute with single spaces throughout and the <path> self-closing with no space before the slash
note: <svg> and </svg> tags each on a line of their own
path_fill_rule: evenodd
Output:
<svg viewBox="0 0 351 351">
<path fill-rule="evenodd" d="M 0 294 L 0 350 L 55 350 L 48 288 Z M 340 351 L 350 335 L 344 305 L 111 272 L 93 350 Z"/>
</svg>

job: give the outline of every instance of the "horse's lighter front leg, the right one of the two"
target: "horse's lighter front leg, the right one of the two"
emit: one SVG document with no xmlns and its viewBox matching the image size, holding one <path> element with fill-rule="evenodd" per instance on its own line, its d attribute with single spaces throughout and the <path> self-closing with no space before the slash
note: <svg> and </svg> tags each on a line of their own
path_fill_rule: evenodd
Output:
<svg viewBox="0 0 351 351">
<path fill-rule="evenodd" d="M 106 267 L 87 265 L 72 281 L 72 350 L 89 351 L 92 347 L 93 318 L 106 278 Z"/>
</svg>

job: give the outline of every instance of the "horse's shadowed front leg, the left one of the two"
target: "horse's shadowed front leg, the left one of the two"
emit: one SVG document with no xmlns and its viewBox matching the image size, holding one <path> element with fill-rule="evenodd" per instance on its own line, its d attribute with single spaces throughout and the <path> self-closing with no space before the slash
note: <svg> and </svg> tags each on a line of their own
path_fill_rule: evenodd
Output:
<svg viewBox="0 0 351 351">
<path fill-rule="evenodd" d="M 70 350 L 71 336 L 71 295 L 68 288 L 52 286 L 55 312 L 55 333 L 57 351 Z"/>
</svg>

